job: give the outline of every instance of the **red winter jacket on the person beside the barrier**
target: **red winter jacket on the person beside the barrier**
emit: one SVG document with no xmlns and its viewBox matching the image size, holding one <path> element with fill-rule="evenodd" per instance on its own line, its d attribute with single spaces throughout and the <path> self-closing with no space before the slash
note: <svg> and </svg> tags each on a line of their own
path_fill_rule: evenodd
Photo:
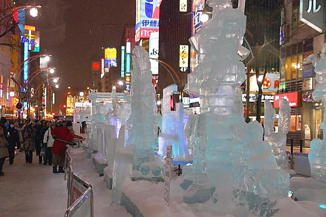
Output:
<svg viewBox="0 0 326 217">
<path fill-rule="evenodd" d="M 58 127 L 56 129 L 52 129 L 51 135 L 55 139 L 61 139 L 61 140 L 65 140 L 68 142 L 72 142 L 73 137 L 74 137 L 74 134 L 71 133 L 67 127 Z M 53 142 L 52 154 L 65 156 L 66 145 L 67 145 L 66 142 L 61 142 L 61 141 L 55 140 Z"/>
</svg>

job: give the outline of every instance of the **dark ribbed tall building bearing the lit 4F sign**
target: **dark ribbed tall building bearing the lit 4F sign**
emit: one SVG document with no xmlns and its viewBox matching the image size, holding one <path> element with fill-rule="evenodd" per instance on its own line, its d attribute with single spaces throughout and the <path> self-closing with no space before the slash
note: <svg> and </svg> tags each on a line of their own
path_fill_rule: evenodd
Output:
<svg viewBox="0 0 326 217">
<path fill-rule="evenodd" d="M 178 85 L 182 92 L 190 72 L 190 43 L 192 4 L 186 0 L 164 0 L 160 6 L 159 17 L 159 74 L 157 93 L 171 84 Z M 170 68 L 171 67 L 171 68 Z"/>
</svg>

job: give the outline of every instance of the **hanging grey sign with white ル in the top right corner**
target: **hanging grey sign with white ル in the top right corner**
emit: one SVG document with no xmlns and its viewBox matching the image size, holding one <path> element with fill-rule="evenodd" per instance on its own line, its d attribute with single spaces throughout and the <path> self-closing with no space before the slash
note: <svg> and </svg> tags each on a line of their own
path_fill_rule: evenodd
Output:
<svg viewBox="0 0 326 217">
<path fill-rule="evenodd" d="M 322 33 L 325 30 L 325 0 L 300 0 L 300 20 Z"/>
</svg>

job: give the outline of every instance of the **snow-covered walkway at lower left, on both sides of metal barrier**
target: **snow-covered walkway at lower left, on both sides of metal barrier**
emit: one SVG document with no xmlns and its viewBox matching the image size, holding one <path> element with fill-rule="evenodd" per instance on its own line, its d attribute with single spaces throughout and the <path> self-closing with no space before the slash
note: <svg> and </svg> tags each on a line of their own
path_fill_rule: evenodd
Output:
<svg viewBox="0 0 326 217">
<path fill-rule="evenodd" d="M 80 148 L 71 151 L 73 168 L 78 175 L 92 184 L 95 217 L 130 217 L 124 207 L 110 206 L 111 192 L 103 177 L 99 177 L 91 160 Z M 67 208 L 67 182 L 64 174 L 53 174 L 52 167 L 26 164 L 24 153 L 15 156 L 13 165 L 6 161 L 0 177 L 0 217 L 58 217 L 65 216 Z"/>
</svg>

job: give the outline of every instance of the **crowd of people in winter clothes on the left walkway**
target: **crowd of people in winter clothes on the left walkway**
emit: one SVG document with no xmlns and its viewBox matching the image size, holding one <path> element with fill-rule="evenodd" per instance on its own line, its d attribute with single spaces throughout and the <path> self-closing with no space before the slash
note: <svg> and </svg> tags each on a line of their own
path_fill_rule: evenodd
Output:
<svg viewBox="0 0 326 217">
<path fill-rule="evenodd" d="M 80 129 L 78 129 L 80 130 Z M 36 153 L 38 163 L 52 166 L 53 173 L 64 173 L 67 142 L 83 139 L 75 135 L 71 121 L 7 120 L 0 118 L 0 176 L 5 159 L 14 164 L 15 151 L 25 152 L 25 162 L 33 163 Z"/>
</svg>

